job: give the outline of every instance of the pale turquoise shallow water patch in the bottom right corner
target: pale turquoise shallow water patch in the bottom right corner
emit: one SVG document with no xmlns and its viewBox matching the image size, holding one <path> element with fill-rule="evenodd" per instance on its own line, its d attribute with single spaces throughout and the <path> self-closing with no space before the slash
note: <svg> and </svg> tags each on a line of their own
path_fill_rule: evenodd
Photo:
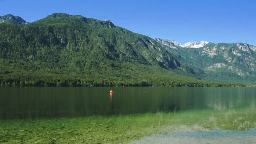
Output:
<svg viewBox="0 0 256 144">
<path fill-rule="evenodd" d="M 175 131 L 173 134 L 157 134 L 132 141 L 131 144 L 256 144 L 256 128 L 245 131 Z"/>
</svg>

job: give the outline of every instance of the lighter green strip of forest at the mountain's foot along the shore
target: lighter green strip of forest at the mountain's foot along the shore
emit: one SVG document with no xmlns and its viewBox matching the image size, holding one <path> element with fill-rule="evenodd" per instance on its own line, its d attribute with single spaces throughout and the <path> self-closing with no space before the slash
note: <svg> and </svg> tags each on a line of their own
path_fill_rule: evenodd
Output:
<svg viewBox="0 0 256 144">
<path fill-rule="evenodd" d="M 221 87 L 243 84 L 216 83 L 185 77 L 161 67 L 124 62 L 121 67 L 89 69 L 84 74 L 40 72 L 37 63 L 1 60 L 1 86 L 171 86 Z M 26 66 L 25 69 L 23 66 Z M 9 69 L 9 70 L 2 70 Z M 50 69 L 48 69 L 50 70 Z M 50 70 L 51 71 L 51 70 Z"/>
</svg>

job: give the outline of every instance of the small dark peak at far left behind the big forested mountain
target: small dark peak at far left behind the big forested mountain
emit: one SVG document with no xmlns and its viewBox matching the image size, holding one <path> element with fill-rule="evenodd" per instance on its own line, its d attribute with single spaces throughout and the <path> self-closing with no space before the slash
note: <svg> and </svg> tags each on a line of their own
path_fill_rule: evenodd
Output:
<svg viewBox="0 0 256 144">
<path fill-rule="evenodd" d="M 13 16 L 11 14 L 7 14 L 5 16 L 0 16 L 0 23 L 7 23 L 7 24 L 28 24 L 27 21 L 22 19 L 19 16 Z"/>
</svg>

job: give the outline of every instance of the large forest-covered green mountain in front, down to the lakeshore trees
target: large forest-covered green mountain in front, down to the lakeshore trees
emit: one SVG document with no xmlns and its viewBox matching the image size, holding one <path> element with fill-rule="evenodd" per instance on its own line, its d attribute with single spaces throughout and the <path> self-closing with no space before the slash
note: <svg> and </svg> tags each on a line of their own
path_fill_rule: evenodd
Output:
<svg viewBox="0 0 256 144">
<path fill-rule="evenodd" d="M 54 13 L 0 24 L 1 86 L 244 86 L 198 80 L 204 76 L 111 21 Z"/>
</svg>

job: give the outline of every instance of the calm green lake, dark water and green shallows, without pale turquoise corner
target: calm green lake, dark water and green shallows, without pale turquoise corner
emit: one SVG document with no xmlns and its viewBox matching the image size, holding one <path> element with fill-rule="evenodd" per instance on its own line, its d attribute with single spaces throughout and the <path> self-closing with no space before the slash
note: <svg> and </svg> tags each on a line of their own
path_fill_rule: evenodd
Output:
<svg viewBox="0 0 256 144">
<path fill-rule="evenodd" d="M 256 88 L 0 87 L 0 143 L 154 143 L 161 133 L 169 140 L 187 131 L 250 134 L 255 106 Z"/>
</svg>

